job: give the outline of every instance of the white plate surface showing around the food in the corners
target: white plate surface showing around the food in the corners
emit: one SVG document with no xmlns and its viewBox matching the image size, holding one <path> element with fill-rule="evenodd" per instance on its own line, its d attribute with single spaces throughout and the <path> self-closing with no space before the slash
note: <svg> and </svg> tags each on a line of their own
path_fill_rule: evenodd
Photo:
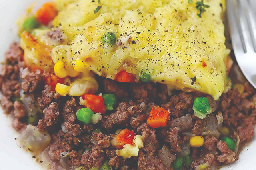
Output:
<svg viewBox="0 0 256 170">
<path fill-rule="evenodd" d="M 0 60 L 14 40 L 18 40 L 16 20 L 32 2 L 46 0 L 0 0 Z M 18 134 L 12 129 L 10 119 L 0 110 L 0 170 L 40 170 L 30 153 L 24 152 L 14 140 Z M 254 137 L 255 138 L 255 137 Z M 256 170 L 256 140 L 246 146 L 240 159 L 222 170 Z"/>
</svg>

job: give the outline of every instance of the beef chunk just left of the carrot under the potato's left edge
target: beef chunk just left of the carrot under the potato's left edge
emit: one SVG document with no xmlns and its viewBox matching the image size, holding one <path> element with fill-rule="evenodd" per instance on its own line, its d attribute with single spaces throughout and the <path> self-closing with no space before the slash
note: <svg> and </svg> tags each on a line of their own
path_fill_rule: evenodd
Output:
<svg viewBox="0 0 256 170">
<path fill-rule="evenodd" d="M 29 72 L 24 78 L 22 78 L 23 82 L 21 84 L 22 90 L 24 92 L 36 92 L 42 90 L 42 85 L 44 84 L 44 80 L 42 79 L 40 72 Z"/>
</svg>

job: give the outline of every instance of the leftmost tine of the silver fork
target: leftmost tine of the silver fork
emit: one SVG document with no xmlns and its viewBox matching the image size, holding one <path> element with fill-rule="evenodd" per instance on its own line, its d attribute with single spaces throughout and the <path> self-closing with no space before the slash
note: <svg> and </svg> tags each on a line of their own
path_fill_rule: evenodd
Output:
<svg viewBox="0 0 256 170">
<path fill-rule="evenodd" d="M 238 20 L 237 12 L 238 8 L 234 4 L 234 0 L 226 0 L 227 13 L 228 13 L 228 24 L 230 27 L 231 40 L 234 50 L 246 51 L 244 46 L 244 40 L 240 29 L 240 22 Z"/>
</svg>

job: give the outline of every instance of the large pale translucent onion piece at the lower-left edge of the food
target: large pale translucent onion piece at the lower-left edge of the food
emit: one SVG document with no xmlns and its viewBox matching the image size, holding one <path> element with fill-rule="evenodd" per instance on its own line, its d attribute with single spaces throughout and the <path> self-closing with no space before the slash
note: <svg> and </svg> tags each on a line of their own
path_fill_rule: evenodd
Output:
<svg viewBox="0 0 256 170">
<path fill-rule="evenodd" d="M 51 137 L 47 132 L 42 132 L 32 125 L 27 125 L 20 134 L 20 146 L 34 153 L 42 152 L 50 141 Z"/>
</svg>

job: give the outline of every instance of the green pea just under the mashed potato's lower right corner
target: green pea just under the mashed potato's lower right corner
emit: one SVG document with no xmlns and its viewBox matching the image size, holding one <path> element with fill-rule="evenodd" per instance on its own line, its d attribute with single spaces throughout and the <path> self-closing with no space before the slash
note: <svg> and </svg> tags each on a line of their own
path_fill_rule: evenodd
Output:
<svg viewBox="0 0 256 170">
<path fill-rule="evenodd" d="M 206 97 L 197 97 L 194 100 L 193 108 L 195 108 L 197 111 L 203 114 L 206 114 L 211 110 L 209 100 Z"/>
</svg>

